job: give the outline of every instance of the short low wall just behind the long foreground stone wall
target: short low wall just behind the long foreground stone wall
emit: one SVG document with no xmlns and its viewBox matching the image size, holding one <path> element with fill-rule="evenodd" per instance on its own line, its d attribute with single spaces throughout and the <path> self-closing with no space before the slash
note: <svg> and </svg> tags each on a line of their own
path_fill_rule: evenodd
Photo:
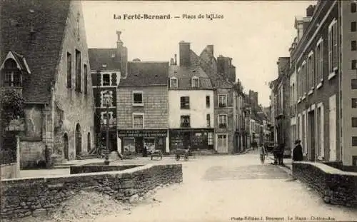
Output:
<svg viewBox="0 0 357 222">
<path fill-rule="evenodd" d="M 70 173 L 96 173 L 96 172 L 106 172 L 106 171 L 124 171 L 129 168 L 139 167 L 144 165 L 119 165 L 119 166 L 95 166 L 95 165 L 82 165 L 82 166 L 70 166 Z"/>
</svg>

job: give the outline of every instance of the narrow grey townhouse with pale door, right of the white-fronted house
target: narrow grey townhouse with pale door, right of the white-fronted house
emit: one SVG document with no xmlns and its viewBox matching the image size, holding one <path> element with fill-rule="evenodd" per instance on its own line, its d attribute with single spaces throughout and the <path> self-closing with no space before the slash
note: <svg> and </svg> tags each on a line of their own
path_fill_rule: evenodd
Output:
<svg viewBox="0 0 357 222">
<path fill-rule="evenodd" d="M 191 62 L 201 66 L 214 89 L 215 147 L 219 153 L 238 153 L 238 121 L 236 96 L 236 67 L 226 56 L 214 57 L 213 45 L 206 46 L 200 56 L 191 51 Z"/>
</svg>

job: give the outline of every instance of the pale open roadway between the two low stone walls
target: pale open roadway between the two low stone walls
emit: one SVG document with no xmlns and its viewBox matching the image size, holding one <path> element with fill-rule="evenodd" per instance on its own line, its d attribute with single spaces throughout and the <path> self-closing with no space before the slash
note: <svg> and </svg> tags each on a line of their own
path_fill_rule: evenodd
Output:
<svg viewBox="0 0 357 222">
<path fill-rule="evenodd" d="M 286 169 L 273 166 L 270 161 L 262 165 L 256 152 L 182 163 L 183 184 L 159 190 L 155 203 L 142 203 L 131 211 L 121 211 L 98 221 L 259 221 L 261 218 L 261 221 L 355 221 L 357 218 L 356 209 L 323 203 L 321 197 L 302 183 L 292 181 Z"/>
</svg>

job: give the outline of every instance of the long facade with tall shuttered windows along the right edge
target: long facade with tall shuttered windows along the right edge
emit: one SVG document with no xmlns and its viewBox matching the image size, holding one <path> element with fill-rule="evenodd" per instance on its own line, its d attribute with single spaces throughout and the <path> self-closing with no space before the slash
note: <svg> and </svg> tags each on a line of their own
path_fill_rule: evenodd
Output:
<svg viewBox="0 0 357 222">
<path fill-rule="evenodd" d="M 317 1 L 295 28 L 288 71 L 293 139 L 301 139 L 308 161 L 356 169 L 356 2 Z"/>
</svg>

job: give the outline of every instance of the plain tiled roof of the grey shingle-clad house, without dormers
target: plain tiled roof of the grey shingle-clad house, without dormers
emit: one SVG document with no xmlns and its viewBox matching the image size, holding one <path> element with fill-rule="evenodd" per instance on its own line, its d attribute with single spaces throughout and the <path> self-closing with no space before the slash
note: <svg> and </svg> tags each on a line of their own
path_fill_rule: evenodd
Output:
<svg viewBox="0 0 357 222">
<path fill-rule="evenodd" d="M 128 76 L 119 86 L 167 85 L 169 62 L 129 61 Z"/>
</svg>

